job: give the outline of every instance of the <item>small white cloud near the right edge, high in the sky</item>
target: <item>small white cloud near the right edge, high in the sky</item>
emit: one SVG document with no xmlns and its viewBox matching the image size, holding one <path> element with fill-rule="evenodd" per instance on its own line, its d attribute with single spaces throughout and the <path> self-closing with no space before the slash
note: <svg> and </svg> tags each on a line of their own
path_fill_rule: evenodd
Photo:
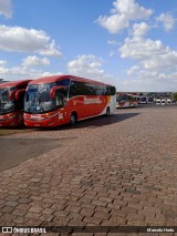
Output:
<svg viewBox="0 0 177 236">
<path fill-rule="evenodd" d="M 163 23 L 166 31 L 173 30 L 176 21 L 170 13 L 162 13 L 156 20 Z"/>
</svg>

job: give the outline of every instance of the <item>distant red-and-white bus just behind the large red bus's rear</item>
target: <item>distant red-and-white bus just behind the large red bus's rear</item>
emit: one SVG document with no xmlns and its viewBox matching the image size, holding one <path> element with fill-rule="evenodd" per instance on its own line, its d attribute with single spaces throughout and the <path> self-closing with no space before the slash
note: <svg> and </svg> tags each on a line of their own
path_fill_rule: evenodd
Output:
<svg viewBox="0 0 177 236">
<path fill-rule="evenodd" d="M 135 107 L 137 106 L 137 99 L 134 94 L 117 93 L 116 107 Z"/>
</svg>

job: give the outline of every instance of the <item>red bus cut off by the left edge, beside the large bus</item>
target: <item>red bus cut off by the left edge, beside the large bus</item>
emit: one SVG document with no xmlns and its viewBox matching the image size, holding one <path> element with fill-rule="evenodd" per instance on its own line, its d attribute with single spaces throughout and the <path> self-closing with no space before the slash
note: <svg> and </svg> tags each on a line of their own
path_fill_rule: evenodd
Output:
<svg viewBox="0 0 177 236">
<path fill-rule="evenodd" d="M 0 126 L 23 124 L 24 93 L 31 80 L 0 84 Z"/>
</svg>

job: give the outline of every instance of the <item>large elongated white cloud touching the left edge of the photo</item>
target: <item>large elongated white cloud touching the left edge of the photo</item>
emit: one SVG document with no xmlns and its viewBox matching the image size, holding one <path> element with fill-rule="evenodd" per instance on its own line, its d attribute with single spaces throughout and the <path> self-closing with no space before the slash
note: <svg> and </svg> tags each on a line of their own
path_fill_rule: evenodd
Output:
<svg viewBox="0 0 177 236">
<path fill-rule="evenodd" d="M 0 49 L 42 55 L 62 55 L 54 40 L 51 40 L 44 31 L 21 27 L 0 25 Z"/>
</svg>

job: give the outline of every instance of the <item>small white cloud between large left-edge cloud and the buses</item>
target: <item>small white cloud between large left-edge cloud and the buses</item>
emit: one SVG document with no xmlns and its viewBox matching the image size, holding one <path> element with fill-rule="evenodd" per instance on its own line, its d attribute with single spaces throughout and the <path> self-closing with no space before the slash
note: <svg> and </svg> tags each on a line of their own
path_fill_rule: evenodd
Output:
<svg viewBox="0 0 177 236">
<path fill-rule="evenodd" d="M 22 66 L 35 66 L 35 65 L 50 65 L 50 61 L 48 58 L 38 58 L 35 55 L 29 55 L 28 58 L 22 60 Z"/>
</svg>

